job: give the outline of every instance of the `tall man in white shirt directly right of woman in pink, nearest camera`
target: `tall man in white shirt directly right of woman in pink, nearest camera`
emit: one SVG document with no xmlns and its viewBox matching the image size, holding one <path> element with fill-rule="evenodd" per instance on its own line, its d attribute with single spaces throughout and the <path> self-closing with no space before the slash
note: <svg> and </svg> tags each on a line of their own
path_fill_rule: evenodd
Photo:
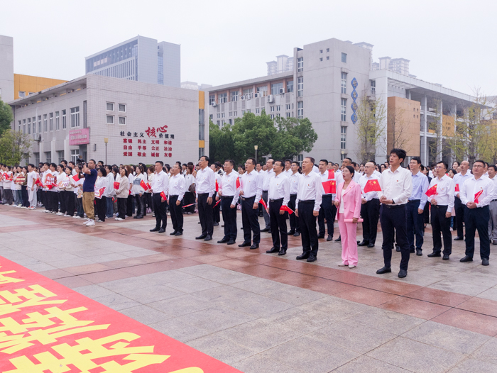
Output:
<svg viewBox="0 0 497 373">
<path fill-rule="evenodd" d="M 376 271 L 377 274 L 392 272 L 391 259 L 393 249 L 394 229 L 397 243 L 400 246 L 399 278 L 408 275 L 409 242 L 405 222 L 406 204 L 413 192 L 413 177 L 408 169 L 400 167 L 405 160 L 403 149 L 392 149 L 390 152 L 390 167 L 383 171 L 380 177 L 381 191 L 378 197 L 382 204 L 380 212 L 381 230 L 383 233 L 383 260 L 385 266 Z"/>
</svg>

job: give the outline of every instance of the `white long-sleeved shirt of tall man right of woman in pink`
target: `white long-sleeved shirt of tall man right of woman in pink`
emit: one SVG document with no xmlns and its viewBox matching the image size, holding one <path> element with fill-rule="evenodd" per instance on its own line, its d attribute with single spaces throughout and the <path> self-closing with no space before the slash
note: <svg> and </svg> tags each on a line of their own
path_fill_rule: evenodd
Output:
<svg viewBox="0 0 497 373">
<path fill-rule="evenodd" d="M 408 198 L 413 192 L 413 177 L 408 169 L 398 167 L 395 172 L 386 169 L 380 177 L 381 191 L 378 191 L 378 198 L 385 196 L 386 199 L 393 199 L 396 205 L 408 203 Z"/>
</svg>

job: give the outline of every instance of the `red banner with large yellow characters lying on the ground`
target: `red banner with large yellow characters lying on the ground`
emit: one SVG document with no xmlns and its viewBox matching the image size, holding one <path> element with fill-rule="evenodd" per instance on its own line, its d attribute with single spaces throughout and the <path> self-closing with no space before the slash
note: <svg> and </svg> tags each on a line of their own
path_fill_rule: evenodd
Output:
<svg viewBox="0 0 497 373">
<path fill-rule="evenodd" d="M 241 373 L 0 257 L 2 373 Z"/>
</svg>

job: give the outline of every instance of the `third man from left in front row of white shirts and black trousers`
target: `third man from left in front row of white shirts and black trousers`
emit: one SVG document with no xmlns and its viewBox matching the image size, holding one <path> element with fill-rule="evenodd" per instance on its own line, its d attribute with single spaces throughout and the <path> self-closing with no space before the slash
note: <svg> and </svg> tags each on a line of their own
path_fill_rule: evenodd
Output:
<svg viewBox="0 0 497 373">
<path fill-rule="evenodd" d="M 212 196 L 216 191 L 216 176 L 209 168 L 209 162 L 210 158 L 206 155 L 200 157 L 200 169 L 197 171 L 197 202 L 202 234 L 195 239 L 204 241 L 212 240 L 212 233 L 214 233 Z"/>
</svg>

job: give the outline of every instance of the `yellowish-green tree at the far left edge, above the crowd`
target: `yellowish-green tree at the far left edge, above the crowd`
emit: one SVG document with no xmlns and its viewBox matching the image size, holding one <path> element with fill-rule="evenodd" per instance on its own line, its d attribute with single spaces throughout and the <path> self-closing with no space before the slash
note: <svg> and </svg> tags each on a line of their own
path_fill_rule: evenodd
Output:
<svg viewBox="0 0 497 373">
<path fill-rule="evenodd" d="M 5 130 L 0 137 L 0 162 L 19 165 L 31 155 L 31 138 L 21 131 Z"/>
</svg>

